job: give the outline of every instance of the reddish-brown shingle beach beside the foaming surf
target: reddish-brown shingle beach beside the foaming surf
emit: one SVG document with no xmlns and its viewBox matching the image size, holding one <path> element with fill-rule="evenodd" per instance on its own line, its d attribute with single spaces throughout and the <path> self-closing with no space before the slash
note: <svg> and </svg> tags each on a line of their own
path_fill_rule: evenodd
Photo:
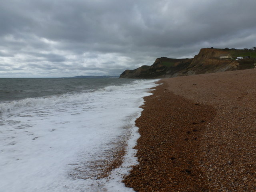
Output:
<svg viewBox="0 0 256 192">
<path fill-rule="evenodd" d="M 256 70 L 162 79 L 136 120 L 137 192 L 256 191 Z"/>
</svg>

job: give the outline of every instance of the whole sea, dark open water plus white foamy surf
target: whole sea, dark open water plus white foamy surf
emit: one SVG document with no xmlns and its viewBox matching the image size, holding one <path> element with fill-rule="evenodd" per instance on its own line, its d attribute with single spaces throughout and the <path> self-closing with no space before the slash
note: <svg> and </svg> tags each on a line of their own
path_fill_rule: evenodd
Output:
<svg viewBox="0 0 256 192">
<path fill-rule="evenodd" d="M 122 179 L 157 81 L 0 78 L 0 191 L 133 192 Z M 122 147 L 121 166 L 100 177 Z"/>
</svg>

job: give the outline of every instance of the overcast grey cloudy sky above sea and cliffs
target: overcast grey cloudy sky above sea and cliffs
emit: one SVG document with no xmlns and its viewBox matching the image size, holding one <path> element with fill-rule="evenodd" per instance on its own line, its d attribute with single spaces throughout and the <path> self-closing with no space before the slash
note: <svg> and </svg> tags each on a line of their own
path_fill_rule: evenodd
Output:
<svg viewBox="0 0 256 192">
<path fill-rule="evenodd" d="M 120 75 L 256 47 L 255 0 L 1 0 L 0 78 Z"/>
</svg>

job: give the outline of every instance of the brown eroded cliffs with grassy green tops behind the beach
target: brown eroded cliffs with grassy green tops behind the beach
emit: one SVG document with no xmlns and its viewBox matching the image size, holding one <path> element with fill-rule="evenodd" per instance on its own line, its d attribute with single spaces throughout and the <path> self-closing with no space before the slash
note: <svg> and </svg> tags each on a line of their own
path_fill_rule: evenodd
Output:
<svg viewBox="0 0 256 192">
<path fill-rule="evenodd" d="M 220 55 L 228 55 L 231 58 L 220 59 Z M 125 70 L 120 78 L 170 78 L 253 68 L 255 59 L 235 60 L 237 56 L 246 55 L 256 57 L 256 51 L 202 48 L 194 58 L 157 58 L 151 66 L 144 65 L 134 70 Z"/>
</svg>

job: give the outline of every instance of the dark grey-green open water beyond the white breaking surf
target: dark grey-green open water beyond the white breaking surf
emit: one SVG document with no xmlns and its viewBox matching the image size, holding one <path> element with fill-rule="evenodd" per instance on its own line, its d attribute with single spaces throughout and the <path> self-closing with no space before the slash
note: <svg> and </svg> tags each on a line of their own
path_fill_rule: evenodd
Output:
<svg viewBox="0 0 256 192">
<path fill-rule="evenodd" d="M 67 93 L 86 93 L 134 82 L 119 78 L 0 78 L 0 102 Z"/>
</svg>

